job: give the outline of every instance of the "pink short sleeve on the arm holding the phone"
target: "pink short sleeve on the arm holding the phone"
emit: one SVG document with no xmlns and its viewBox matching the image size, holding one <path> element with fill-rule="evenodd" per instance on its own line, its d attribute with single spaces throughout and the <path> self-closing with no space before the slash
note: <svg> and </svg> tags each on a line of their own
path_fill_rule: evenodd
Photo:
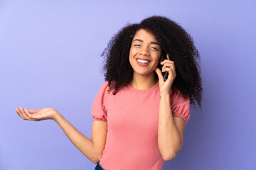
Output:
<svg viewBox="0 0 256 170">
<path fill-rule="evenodd" d="M 173 116 L 178 116 L 188 123 L 191 112 L 189 108 L 189 98 L 183 98 L 180 91 L 171 91 L 171 111 Z"/>
</svg>

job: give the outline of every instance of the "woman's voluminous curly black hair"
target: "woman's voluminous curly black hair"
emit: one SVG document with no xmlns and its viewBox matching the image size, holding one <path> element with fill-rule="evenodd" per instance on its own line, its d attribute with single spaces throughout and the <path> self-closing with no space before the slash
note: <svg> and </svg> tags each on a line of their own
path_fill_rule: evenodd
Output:
<svg viewBox="0 0 256 170">
<path fill-rule="evenodd" d="M 112 94 L 116 94 L 122 86 L 127 86 L 133 78 L 133 69 L 129 63 L 129 50 L 132 39 L 138 30 L 144 29 L 152 33 L 160 43 L 161 60 L 169 54 L 170 60 L 176 67 L 176 78 L 171 86 L 174 91 L 179 90 L 184 98 L 190 98 L 195 107 L 195 100 L 201 106 L 202 80 L 199 52 L 193 45 L 193 38 L 176 22 L 164 16 L 151 16 L 141 23 L 127 24 L 108 43 L 101 56 L 105 57 L 105 81 L 108 81 Z M 198 61 L 197 61 L 198 60 Z M 161 65 L 159 64 L 159 68 Z M 164 74 L 164 73 L 163 73 Z M 155 78 L 158 79 L 155 72 Z"/>
</svg>

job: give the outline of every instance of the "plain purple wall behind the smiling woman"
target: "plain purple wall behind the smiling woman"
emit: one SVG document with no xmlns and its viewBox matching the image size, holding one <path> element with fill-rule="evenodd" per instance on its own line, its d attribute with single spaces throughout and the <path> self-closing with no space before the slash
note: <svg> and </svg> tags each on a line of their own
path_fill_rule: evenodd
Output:
<svg viewBox="0 0 256 170">
<path fill-rule="evenodd" d="M 154 14 L 193 36 L 204 89 L 164 169 L 256 169 L 255 11 L 255 1 L 0 1 L 0 169 L 94 169 L 53 120 L 14 108 L 55 108 L 90 138 L 100 54 L 126 23 Z"/>
</svg>

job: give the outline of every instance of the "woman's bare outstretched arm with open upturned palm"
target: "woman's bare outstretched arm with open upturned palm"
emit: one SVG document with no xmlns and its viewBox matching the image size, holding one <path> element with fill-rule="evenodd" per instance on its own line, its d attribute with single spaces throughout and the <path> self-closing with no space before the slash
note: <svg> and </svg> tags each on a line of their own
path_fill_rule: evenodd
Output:
<svg viewBox="0 0 256 170">
<path fill-rule="evenodd" d="M 55 120 L 65 132 L 68 139 L 70 139 L 73 145 L 75 145 L 85 157 L 95 164 L 100 161 L 106 142 L 107 121 L 93 121 L 92 140 L 90 140 L 53 108 L 43 108 L 41 110 L 26 109 L 26 113 L 23 111 L 23 108 L 21 108 L 21 111 L 19 111 L 18 108 L 15 110 L 23 120 Z"/>
</svg>

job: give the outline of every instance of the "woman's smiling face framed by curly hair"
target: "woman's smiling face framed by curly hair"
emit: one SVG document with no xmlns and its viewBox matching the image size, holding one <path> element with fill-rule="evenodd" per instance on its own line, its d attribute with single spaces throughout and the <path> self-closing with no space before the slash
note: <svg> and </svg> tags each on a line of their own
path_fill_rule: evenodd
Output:
<svg viewBox="0 0 256 170">
<path fill-rule="evenodd" d="M 138 30 L 132 40 L 129 52 L 129 62 L 134 70 L 134 75 L 149 76 L 159 64 L 161 47 L 154 35 L 147 30 Z"/>
</svg>

